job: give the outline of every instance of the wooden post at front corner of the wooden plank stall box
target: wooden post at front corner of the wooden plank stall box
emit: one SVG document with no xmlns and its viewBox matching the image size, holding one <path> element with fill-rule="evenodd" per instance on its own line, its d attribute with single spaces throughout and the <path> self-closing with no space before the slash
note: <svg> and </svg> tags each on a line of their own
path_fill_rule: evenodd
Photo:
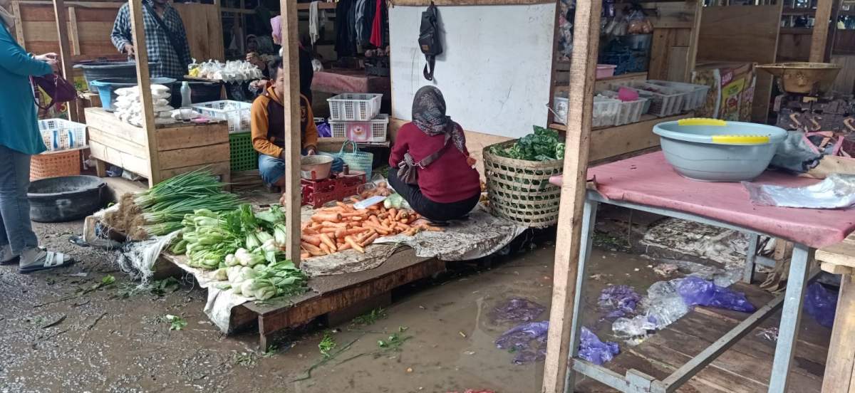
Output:
<svg viewBox="0 0 855 393">
<path fill-rule="evenodd" d="M 157 133 L 155 130 L 155 108 L 151 99 L 151 76 L 149 73 L 149 51 L 145 47 L 145 28 L 143 24 L 143 0 L 128 0 L 131 7 L 131 31 L 133 32 L 133 50 L 137 61 L 137 85 L 139 98 L 143 106 L 143 128 L 149 149 L 149 186 L 160 183 L 160 155 L 157 154 Z M 175 88 L 175 87 L 173 87 Z"/>
</svg>

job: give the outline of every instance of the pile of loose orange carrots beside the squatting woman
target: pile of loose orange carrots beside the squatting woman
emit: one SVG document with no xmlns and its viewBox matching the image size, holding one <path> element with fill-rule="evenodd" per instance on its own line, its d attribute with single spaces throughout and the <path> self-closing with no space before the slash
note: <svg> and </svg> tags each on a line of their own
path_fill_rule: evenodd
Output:
<svg viewBox="0 0 855 393">
<path fill-rule="evenodd" d="M 442 231 L 420 219 L 416 212 L 403 208 L 386 209 L 374 205 L 357 209 L 352 204 L 337 202 L 336 206 L 318 209 L 311 220 L 303 224 L 300 257 L 330 255 L 345 249 L 364 253 L 365 247 L 381 236 Z"/>
</svg>

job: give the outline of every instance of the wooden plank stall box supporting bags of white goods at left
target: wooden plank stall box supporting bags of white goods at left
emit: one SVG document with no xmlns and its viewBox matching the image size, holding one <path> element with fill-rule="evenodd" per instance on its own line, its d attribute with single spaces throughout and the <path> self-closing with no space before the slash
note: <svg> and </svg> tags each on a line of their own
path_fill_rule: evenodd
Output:
<svg viewBox="0 0 855 393">
<path fill-rule="evenodd" d="M 151 167 L 145 129 L 127 124 L 101 108 L 85 109 L 91 156 L 97 174 L 106 176 L 107 163 L 137 173 L 154 185 L 177 174 L 208 167 L 231 181 L 228 126 L 226 122 L 204 125 L 174 124 L 156 128 L 159 167 Z"/>
</svg>

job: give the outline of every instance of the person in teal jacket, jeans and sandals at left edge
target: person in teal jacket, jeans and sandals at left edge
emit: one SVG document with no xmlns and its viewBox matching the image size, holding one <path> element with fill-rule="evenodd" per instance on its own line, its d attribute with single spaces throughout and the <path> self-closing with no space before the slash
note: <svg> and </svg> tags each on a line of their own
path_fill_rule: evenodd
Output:
<svg viewBox="0 0 855 393">
<path fill-rule="evenodd" d="M 32 56 L 15 42 L 8 5 L 0 0 L 0 264 L 18 262 L 18 272 L 30 273 L 72 263 L 38 247 L 27 201 L 30 157 L 46 150 L 30 77 L 53 73 L 57 62 L 55 53 Z"/>
</svg>

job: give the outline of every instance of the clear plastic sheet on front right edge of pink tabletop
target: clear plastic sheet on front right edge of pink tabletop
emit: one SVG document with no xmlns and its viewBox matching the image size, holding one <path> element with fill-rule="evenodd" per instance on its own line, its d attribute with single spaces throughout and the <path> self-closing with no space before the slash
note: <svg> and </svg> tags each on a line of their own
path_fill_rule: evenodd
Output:
<svg viewBox="0 0 855 393">
<path fill-rule="evenodd" d="M 806 187 L 742 182 L 752 203 L 781 208 L 846 208 L 855 204 L 855 175 L 837 174 Z"/>
</svg>

